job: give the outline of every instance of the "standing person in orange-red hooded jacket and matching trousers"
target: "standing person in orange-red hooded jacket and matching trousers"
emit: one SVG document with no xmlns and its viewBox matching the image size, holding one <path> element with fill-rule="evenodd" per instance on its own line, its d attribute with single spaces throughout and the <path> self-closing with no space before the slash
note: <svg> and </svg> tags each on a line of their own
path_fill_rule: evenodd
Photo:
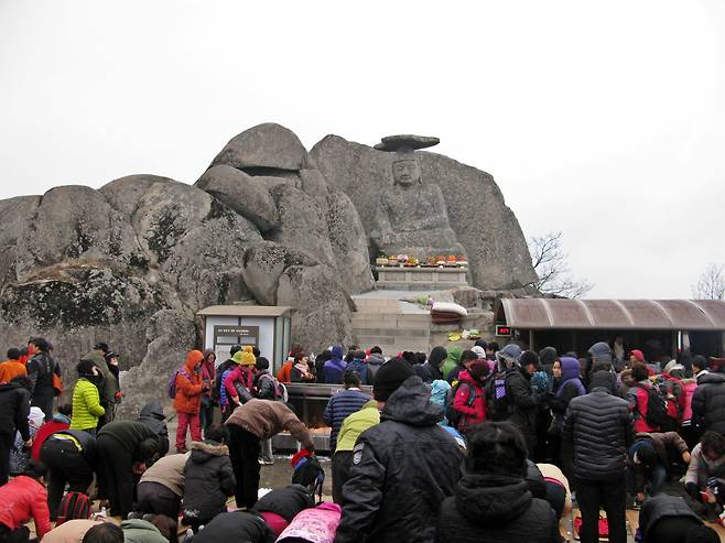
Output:
<svg viewBox="0 0 725 543">
<path fill-rule="evenodd" d="M 204 355 L 199 350 L 190 350 L 186 354 L 184 367 L 175 371 L 169 395 L 174 398 L 176 410 L 176 453 L 186 453 L 186 428 L 192 434 L 193 442 L 202 441 L 202 426 L 199 410 L 202 394 L 206 392 L 207 384 L 202 382 L 202 361 Z"/>
</svg>

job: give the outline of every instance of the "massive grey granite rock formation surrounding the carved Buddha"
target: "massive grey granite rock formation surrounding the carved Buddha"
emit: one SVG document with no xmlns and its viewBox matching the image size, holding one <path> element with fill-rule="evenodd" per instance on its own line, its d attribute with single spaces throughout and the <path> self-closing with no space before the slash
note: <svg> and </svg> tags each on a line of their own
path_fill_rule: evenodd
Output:
<svg viewBox="0 0 725 543">
<path fill-rule="evenodd" d="M 130 416 L 201 347 L 195 315 L 209 305 L 291 305 L 295 343 L 349 344 L 350 294 L 374 286 L 371 203 L 390 160 L 337 137 L 309 153 L 268 123 L 232 138 L 194 185 L 130 175 L 2 200 L 0 347 L 47 337 L 69 389 L 76 361 L 107 341 L 129 370 L 120 412 Z M 530 279 L 490 176 L 431 153 L 421 163 L 445 194 L 476 284 Z"/>
</svg>

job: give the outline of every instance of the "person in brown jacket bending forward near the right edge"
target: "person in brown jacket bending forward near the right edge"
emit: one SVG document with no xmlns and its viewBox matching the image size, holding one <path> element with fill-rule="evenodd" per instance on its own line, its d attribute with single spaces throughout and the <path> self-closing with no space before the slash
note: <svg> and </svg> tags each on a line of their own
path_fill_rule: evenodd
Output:
<svg viewBox="0 0 725 543">
<path fill-rule="evenodd" d="M 662 491 L 668 474 L 673 471 L 671 456 L 680 457 L 685 465 L 690 464 L 688 444 L 677 432 L 635 435 L 635 443 L 629 447 L 627 457 L 639 503 L 645 501 L 646 486 L 649 487 L 649 496 L 657 496 Z M 682 475 L 683 473 L 680 474 Z"/>
</svg>

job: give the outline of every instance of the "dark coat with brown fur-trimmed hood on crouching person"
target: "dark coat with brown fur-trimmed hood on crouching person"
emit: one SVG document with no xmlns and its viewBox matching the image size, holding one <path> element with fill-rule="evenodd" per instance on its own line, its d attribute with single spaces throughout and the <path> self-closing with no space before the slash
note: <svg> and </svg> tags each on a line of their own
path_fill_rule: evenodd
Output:
<svg viewBox="0 0 725 543">
<path fill-rule="evenodd" d="M 226 512 L 235 487 L 229 448 L 213 441 L 192 442 L 184 467 L 184 517 L 208 521 Z"/>
</svg>

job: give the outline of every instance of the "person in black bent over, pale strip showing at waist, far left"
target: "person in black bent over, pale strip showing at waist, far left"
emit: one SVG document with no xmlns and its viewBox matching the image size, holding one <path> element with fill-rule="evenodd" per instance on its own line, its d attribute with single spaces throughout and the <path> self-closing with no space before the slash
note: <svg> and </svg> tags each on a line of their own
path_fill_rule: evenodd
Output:
<svg viewBox="0 0 725 543">
<path fill-rule="evenodd" d="M 57 432 L 45 441 L 40 457 L 47 468 L 47 504 L 55 521 L 66 484 L 68 492 L 88 498 L 96 467 L 96 437 L 82 430 Z"/>
</svg>

